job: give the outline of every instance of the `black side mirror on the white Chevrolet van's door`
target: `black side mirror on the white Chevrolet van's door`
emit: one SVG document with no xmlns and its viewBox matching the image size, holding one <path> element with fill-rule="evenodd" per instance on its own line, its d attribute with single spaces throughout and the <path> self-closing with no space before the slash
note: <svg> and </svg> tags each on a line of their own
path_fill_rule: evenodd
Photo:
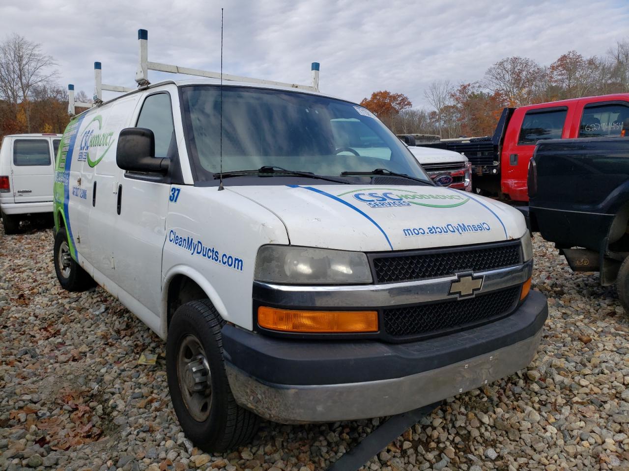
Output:
<svg viewBox="0 0 629 471">
<path fill-rule="evenodd" d="M 170 160 L 155 158 L 155 136 L 144 127 L 127 127 L 120 131 L 116 164 L 122 170 L 167 173 Z"/>
</svg>

